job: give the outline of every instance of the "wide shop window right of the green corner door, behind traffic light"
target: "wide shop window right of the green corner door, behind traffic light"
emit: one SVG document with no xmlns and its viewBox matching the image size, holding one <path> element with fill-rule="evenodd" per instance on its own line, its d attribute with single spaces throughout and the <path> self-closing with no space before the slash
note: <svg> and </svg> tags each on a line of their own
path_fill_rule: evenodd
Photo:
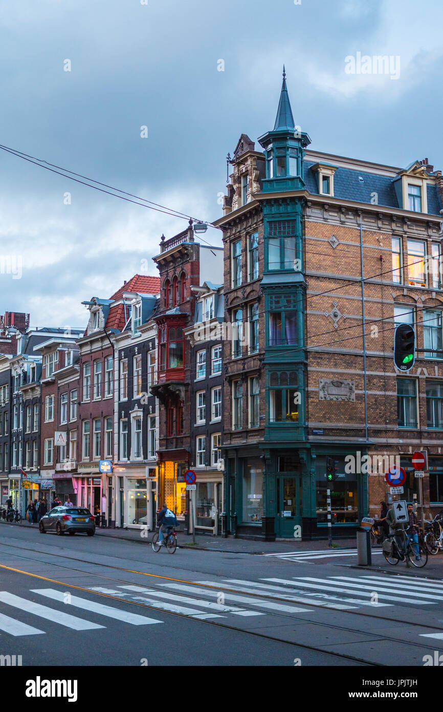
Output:
<svg viewBox="0 0 443 712">
<path fill-rule="evenodd" d="M 357 475 L 345 472 L 344 456 L 337 456 L 335 480 L 326 480 L 326 456 L 316 457 L 316 513 L 319 526 L 327 526 L 327 490 L 331 491 L 332 524 L 353 524 L 358 520 Z"/>
</svg>

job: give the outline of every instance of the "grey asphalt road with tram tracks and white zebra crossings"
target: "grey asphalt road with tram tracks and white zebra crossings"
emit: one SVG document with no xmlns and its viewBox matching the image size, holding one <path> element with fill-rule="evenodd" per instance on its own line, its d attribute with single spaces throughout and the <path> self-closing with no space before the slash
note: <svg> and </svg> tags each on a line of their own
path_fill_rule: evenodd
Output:
<svg viewBox="0 0 443 712">
<path fill-rule="evenodd" d="M 442 653 L 441 577 L 335 554 L 169 555 L 0 525 L 0 655 L 23 666 L 372 667 Z"/>
</svg>

